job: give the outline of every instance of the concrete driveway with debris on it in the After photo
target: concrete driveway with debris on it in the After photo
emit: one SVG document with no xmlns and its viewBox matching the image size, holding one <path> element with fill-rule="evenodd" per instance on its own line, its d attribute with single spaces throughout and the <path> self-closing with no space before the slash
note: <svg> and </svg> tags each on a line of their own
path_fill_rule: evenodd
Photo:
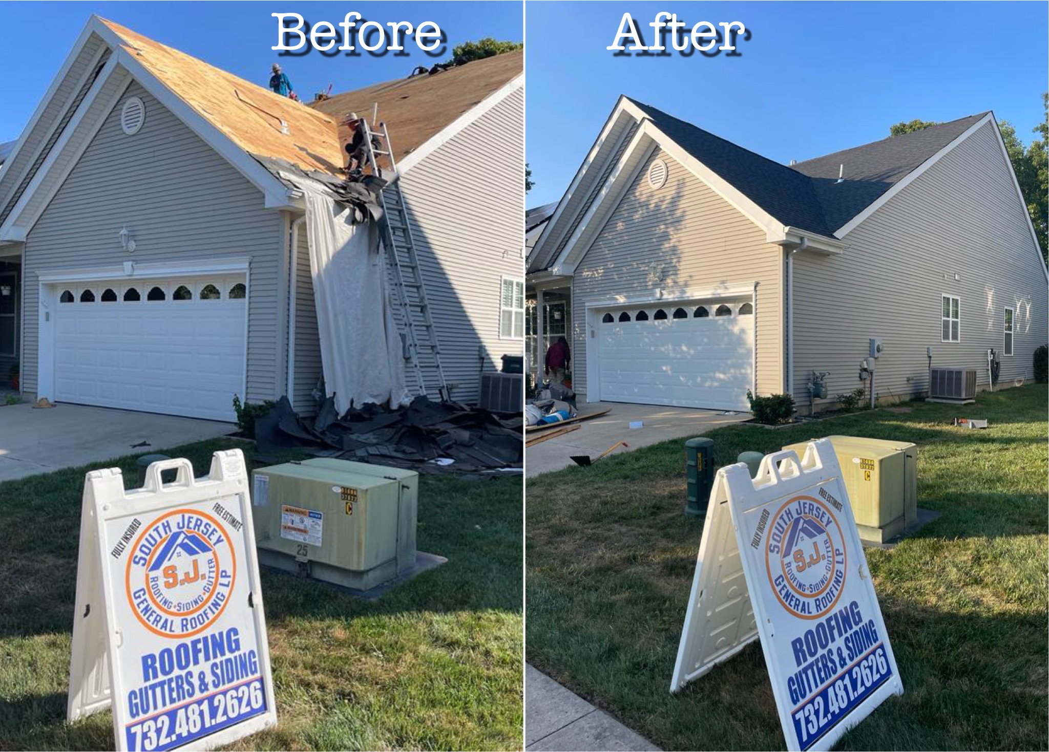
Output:
<svg viewBox="0 0 1049 752">
<path fill-rule="evenodd" d="M 695 410 L 686 407 L 661 407 L 659 405 L 627 405 L 612 402 L 592 402 L 579 406 L 579 414 L 612 409 L 607 415 L 594 417 L 575 424 L 577 431 L 550 438 L 542 444 L 524 450 L 524 476 L 549 473 L 566 468 L 574 463 L 573 454 L 588 454 L 596 457 L 617 442 L 626 442 L 629 449 L 619 448 L 614 454 L 630 451 L 649 444 L 658 444 L 668 438 L 699 436 L 711 429 L 743 423 L 750 420 L 749 412 L 720 410 Z M 641 428 L 630 428 L 630 423 L 641 421 Z M 548 431 L 556 431 L 549 428 Z M 541 432 L 529 433 L 529 439 L 541 436 Z"/>
</svg>

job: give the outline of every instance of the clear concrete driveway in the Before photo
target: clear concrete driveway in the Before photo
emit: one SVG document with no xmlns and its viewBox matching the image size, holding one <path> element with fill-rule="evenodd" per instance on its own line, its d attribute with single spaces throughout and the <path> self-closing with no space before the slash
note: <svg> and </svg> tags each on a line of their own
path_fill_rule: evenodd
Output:
<svg viewBox="0 0 1049 752">
<path fill-rule="evenodd" d="M 232 423 L 83 405 L 0 407 L 0 481 L 224 436 Z M 148 446 L 134 445 L 147 442 Z"/>
</svg>

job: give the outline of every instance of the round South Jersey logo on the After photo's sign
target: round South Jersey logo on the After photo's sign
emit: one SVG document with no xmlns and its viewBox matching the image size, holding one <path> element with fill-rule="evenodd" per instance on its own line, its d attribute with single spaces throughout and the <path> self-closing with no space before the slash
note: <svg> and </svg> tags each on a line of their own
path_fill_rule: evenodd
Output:
<svg viewBox="0 0 1049 752">
<path fill-rule="evenodd" d="M 845 583 L 845 547 L 831 510 L 795 496 L 772 516 L 765 566 L 776 599 L 801 619 L 830 611 Z"/>
</svg>

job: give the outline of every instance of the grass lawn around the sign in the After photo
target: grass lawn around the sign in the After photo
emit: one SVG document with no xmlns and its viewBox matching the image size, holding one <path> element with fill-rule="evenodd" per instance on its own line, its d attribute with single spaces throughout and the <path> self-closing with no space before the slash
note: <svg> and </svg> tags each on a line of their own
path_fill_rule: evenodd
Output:
<svg viewBox="0 0 1049 752">
<path fill-rule="evenodd" d="M 866 552 L 905 693 L 838 749 L 1044 750 L 1046 387 L 907 406 L 708 435 L 719 466 L 832 434 L 919 446 L 918 503 L 943 516 Z M 702 532 L 684 506 L 681 441 L 529 478 L 528 660 L 663 749 L 783 749 L 758 643 L 668 691 Z"/>
</svg>

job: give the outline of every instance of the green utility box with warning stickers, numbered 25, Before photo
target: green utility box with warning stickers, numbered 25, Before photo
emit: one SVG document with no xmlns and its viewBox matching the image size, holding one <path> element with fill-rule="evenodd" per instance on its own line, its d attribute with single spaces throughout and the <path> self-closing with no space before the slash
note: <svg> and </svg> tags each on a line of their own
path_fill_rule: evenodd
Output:
<svg viewBox="0 0 1049 752">
<path fill-rule="evenodd" d="M 317 458 L 253 473 L 259 562 L 368 590 L 415 566 L 419 474 Z"/>
</svg>

